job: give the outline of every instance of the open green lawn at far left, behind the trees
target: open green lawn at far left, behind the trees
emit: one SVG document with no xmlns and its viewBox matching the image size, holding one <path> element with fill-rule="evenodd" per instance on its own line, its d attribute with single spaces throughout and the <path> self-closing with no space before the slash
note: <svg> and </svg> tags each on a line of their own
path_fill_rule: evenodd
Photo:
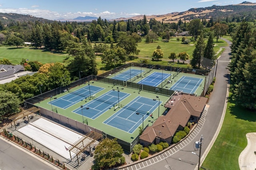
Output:
<svg viewBox="0 0 256 170">
<path fill-rule="evenodd" d="M 50 52 L 30 47 L 0 46 L 0 59 L 6 58 L 14 64 L 20 64 L 22 58 L 29 61 L 39 61 L 43 64 L 62 63 L 66 55 L 66 53 Z"/>
</svg>

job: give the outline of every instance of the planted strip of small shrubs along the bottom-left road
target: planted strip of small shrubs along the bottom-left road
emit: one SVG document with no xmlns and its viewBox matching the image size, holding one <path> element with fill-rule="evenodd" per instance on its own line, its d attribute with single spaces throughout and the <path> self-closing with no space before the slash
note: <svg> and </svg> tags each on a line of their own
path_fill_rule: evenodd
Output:
<svg viewBox="0 0 256 170">
<path fill-rule="evenodd" d="M 54 159 L 52 156 L 50 156 L 48 153 L 36 148 L 36 146 L 33 146 L 31 143 L 28 143 L 22 138 L 19 138 L 18 136 L 15 136 L 12 134 L 12 132 L 8 132 L 5 128 L 4 131 L 0 132 L 1 136 L 4 136 L 5 138 L 8 138 L 9 140 L 12 140 L 12 142 L 22 146 L 23 148 L 26 148 L 27 150 L 30 150 L 30 152 L 33 152 L 34 154 L 37 154 L 38 156 L 44 158 L 45 160 L 48 160 L 52 164 L 58 166 L 59 168 L 62 168 L 64 170 L 70 170 L 65 166 L 64 163 L 61 163 L 58 159 Z"/>
</svg>

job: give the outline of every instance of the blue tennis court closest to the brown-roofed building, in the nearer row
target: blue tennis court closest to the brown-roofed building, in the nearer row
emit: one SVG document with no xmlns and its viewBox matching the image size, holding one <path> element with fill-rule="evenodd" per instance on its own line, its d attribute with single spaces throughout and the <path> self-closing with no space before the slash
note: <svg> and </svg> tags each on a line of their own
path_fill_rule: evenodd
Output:
<svg viewBox="0 0 256 170">
<path fill-rule="evenodd" d="M 160 101 L 162 103 L 162 101 Z M 103 123 L 133 133 L 158 108 L 158 101 L 138 96 Z M 136 114 L 139 113 L 139 114 Z M 144 124 L 144 127 L 147 124 Z"/>
</svg>

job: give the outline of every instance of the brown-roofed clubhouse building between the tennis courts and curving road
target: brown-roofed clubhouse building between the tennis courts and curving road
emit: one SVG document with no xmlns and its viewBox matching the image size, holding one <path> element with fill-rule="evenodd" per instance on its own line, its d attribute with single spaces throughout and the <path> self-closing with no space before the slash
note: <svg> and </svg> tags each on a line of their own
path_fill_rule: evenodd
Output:
<svg viewBox="0 0 256 170">
<path fill-rule="evenodd" d="M 140 144 L 148 146 L 161 141 L 171 144 L 172 138 L 177 131 L 183 130 L 188 121 L 197 123 L 206 105 L 206 97 L 175 92 L 164 105 L 168 112 L 160 116 L 156 122 L 146 128 L 140 135 Z"/>
</svg>

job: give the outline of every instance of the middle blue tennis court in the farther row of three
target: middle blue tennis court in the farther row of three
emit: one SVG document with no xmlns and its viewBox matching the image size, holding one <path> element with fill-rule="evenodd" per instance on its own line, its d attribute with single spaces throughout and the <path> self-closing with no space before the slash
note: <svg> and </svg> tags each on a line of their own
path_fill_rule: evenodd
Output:
<svg viewBox="0 0 256 170">
<path fill-rule="evenodd" d="M 160 85 L 160 83 L 162 83 L 162 81 L 164 81 L 168 77 L 170 77 L 170 74 L 154 72 L 154 73 L 148 75 L 143 80 L 139 81 L 138 84 L 150 85 L 150 86 L 157 87 L 158 85 Z"/>
</svg>

